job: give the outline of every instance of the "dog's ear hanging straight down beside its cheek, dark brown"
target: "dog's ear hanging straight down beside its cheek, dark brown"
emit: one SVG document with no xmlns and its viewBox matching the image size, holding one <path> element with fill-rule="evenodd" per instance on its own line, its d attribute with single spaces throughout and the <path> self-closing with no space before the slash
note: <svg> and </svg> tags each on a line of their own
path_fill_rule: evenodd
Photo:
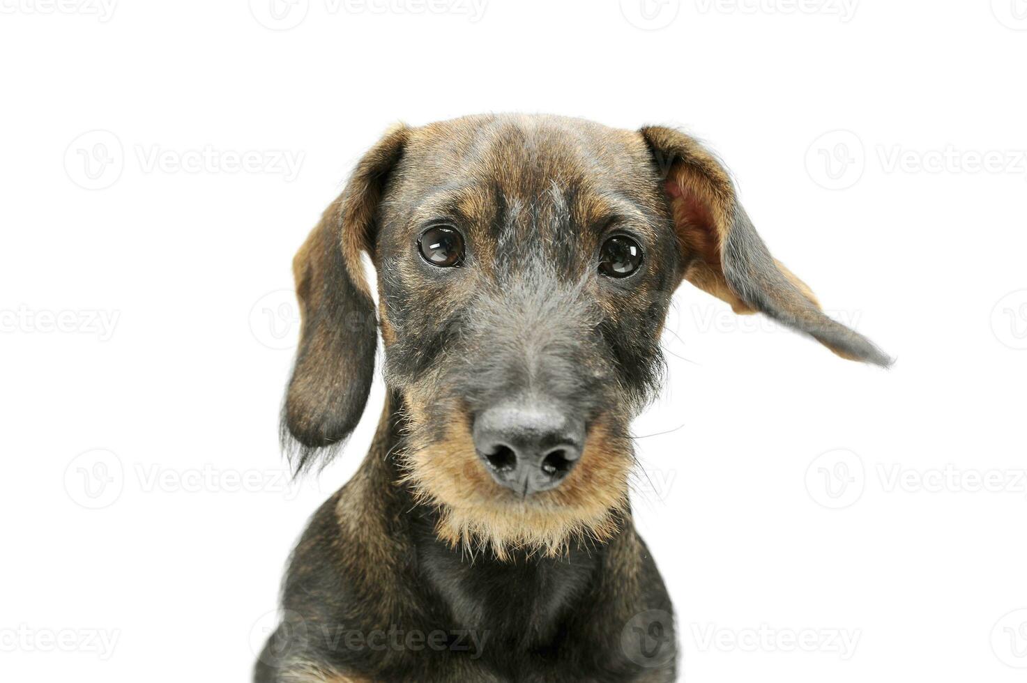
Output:
<svg viewBox="0 0 1027 683">
<path fill-rule="evenodd" d="M 378 202 L 408 131 L 389 130 L 365 154 L 293 260 L 303 322 L 281 438 L 297 471 L 318 449 L 334 455 L 368 400 L 378 333 L 360 252 L 373 254 Z"/>
</svg>

